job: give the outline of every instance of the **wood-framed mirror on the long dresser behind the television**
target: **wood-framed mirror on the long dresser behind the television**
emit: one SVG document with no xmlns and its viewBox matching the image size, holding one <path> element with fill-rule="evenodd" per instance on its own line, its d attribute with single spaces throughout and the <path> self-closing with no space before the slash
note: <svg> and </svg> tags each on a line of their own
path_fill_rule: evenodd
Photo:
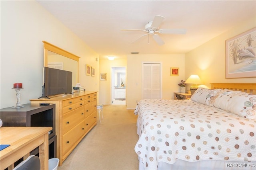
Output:
<svg viewBox="0 0 256 170">
<path fill-rule="evenodd" d="M 46 41 L 44 43 L 44 66 L 72 71 L 72 86 L 79 82 L 79 58 Z"/>
</svg>

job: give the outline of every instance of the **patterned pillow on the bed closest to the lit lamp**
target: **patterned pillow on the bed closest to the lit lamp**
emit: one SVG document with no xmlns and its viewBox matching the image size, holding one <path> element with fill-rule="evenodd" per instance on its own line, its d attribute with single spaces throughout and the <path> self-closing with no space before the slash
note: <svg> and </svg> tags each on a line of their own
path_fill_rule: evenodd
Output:
<svg viewBox="0 0 256 170">
<path fill-rule="evenodd" d="M 191 100 L 208 106 L 214 106 L 215 99 L 221 93 L 221 89 L 208 89 L 199 87 L 191 96 Z"/>
</svg>

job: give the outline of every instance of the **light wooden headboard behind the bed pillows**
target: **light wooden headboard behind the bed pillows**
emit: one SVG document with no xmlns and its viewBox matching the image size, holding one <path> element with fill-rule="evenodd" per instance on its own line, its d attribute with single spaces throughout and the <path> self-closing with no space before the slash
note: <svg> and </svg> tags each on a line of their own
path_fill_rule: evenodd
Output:
<svg viewBox="0 0 256 170">
<path fill-rule="evenodd" d="M 211 83 L 212 89 L 229 89 L 256 94 L 256 83 Z"/>
</svg>

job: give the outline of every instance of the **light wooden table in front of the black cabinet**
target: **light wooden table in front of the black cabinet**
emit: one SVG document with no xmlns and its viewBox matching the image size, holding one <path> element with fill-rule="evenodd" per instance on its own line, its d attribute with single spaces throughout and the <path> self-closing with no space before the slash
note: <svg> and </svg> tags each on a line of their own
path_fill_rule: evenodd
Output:
<svg viewBox="0 0 256 170">
<path fill-rule="evenodd" d="M 14 162 L 22 157 L 26 159 L 38 146 L 41 170 L 48 170 L 50 130 L 52 127 L 1 127 L 0 144 L 10 146 L 0 151 L 0 170 L 13 168 Z"/>
</svg>

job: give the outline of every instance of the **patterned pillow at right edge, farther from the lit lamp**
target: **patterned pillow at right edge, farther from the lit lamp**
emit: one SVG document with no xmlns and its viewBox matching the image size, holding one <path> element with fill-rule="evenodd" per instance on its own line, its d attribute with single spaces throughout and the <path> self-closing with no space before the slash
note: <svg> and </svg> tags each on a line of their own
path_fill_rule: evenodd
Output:
<svg viewBox="0 0 256 170">
<path fill-rule="evenodd" d="M 248 119 L 256 119 L 256 95 L 240 91 L 223 90 L 215 98 L 214 107 Z"/>
</svg>

